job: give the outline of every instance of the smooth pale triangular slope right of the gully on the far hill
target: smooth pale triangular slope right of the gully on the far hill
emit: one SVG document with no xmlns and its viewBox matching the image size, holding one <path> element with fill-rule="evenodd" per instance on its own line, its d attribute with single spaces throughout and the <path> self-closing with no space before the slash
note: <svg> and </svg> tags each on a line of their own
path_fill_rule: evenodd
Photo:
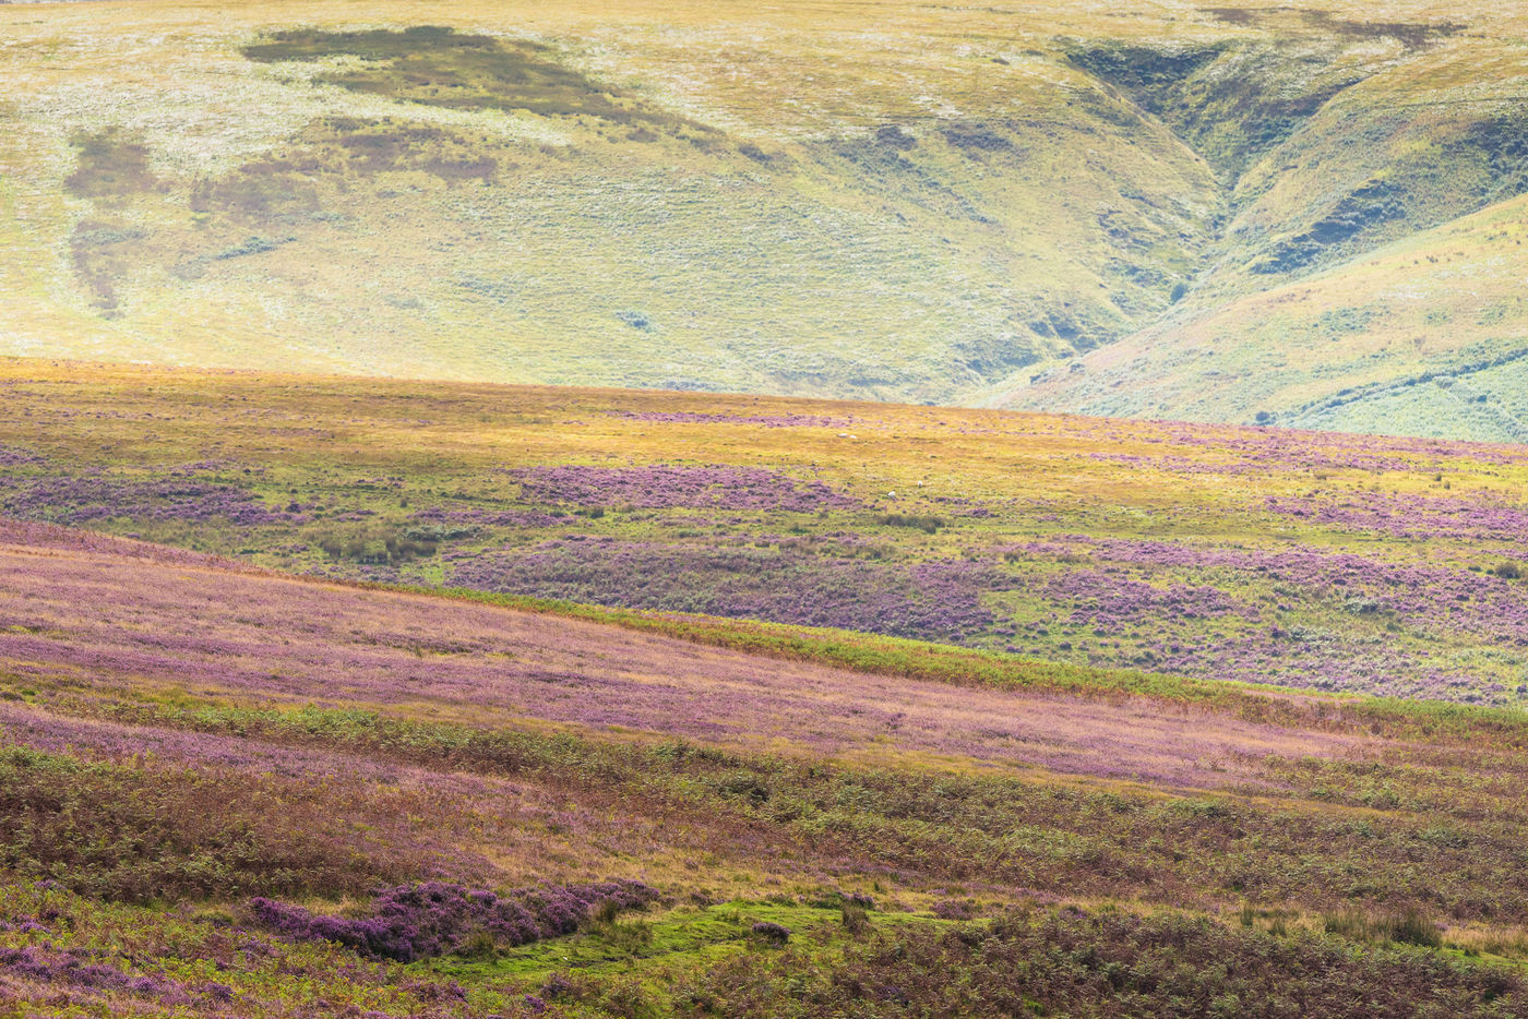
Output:
<svg viewBox="0 0 1528 1019">
<path fill-rule="evenodd" d="M 1523 442 L 1516 199 L 1372 255 L 1192 309 L 998 403 Z"/>
</svg>

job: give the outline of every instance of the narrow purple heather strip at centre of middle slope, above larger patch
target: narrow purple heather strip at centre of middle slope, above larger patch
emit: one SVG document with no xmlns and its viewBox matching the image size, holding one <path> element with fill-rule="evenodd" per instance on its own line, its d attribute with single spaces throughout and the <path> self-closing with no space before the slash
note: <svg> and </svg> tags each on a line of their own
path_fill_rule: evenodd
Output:
<svg viewBox="0 0 1528 1019">
<path fill-rule="evenodd" d="M 643 509 L 770 509 L 814 513 L 851 509 L 857 500 L 821 481 L 798 481 L 761 467 L 526 467 L 512 472 L 533 503 L 571 506 L 628 504 Z"/>
</svg>

